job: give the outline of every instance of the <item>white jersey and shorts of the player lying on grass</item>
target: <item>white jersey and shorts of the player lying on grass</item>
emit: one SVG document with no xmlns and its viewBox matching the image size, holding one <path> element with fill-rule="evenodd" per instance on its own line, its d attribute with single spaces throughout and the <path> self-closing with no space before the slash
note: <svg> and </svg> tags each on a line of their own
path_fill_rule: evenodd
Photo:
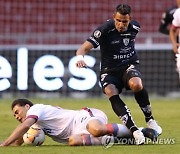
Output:
<svg viewBox="0 0 180 154">
<path fill-rule="evenodd" d="M 86 129 L 89 120 L 98 119 L 104 124 L 107 123 L 107 116 L 98 109 L 67 110 L 44 104 L 30 107 L 26 118 L 34 118 L 46 135 L 60 143 L 67 143 L 71 135 L 89 134 Z"/>
</svg>

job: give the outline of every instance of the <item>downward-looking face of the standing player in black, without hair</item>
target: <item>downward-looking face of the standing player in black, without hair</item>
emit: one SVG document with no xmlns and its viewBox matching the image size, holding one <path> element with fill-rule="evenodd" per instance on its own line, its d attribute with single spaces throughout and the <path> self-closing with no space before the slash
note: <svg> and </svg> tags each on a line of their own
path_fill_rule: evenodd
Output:
<svg viewBox="0 0 180 154">
<path fill-rule="evenodd" d="M 122 15 L 119 12 L 116 12 L 113 15 L 113 18 L 114 18 L 115 27 L 119 32 L 124 32 L 127 29 L 129 22 L 131 20 L 129 14 Z"/>
</svg>

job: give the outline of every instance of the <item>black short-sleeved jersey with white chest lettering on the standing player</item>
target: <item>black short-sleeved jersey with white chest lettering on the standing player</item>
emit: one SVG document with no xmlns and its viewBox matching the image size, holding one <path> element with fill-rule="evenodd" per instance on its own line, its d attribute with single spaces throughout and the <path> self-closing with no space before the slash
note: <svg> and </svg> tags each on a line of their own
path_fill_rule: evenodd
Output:
<svg viewBox="0 0 180 154">
<path fill-rule="evenodd" d="M 111 19 L 93 32 L 87 41 L 94 48 L 100 46 L 101 69 L 120 68 L 139 62 L 135 51 L 135 38 L 139 30 L 139 23 L 132 20 L 126 31 L 118 32 Z"/>
</svg>

